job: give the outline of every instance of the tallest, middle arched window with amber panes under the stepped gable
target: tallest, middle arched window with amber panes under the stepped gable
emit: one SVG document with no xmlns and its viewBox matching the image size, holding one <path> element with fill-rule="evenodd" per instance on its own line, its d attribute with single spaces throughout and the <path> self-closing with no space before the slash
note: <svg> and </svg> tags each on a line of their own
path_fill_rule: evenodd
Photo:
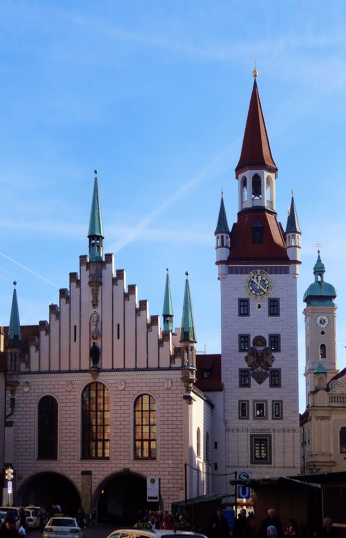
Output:
<svg viewBox="0 0 346 538">
<path fill-rule="evenodd" d="M 90 383 L 82 393 L 82 458 L 109 458 L 110 431 L 109 390 Z"/>
</svg>

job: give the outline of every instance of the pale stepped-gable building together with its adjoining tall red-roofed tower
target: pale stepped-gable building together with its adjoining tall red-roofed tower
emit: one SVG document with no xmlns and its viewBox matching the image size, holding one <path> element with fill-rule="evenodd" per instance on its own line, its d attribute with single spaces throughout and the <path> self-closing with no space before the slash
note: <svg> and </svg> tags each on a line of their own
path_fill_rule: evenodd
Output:
<svg viewBox="0 0 346 538">
<path fill-rule="evenodd" d="M 221 195 L 215 230 L 221 355 L 196 356 L 188 274 L 174 329 L 168 273 L 161 325 L 114 268 L 113 254 L 103 253 L 97 176 L 89 254 L 69 274 L 69 289 L 60 289 L 59 305 L 49 306 L 48 321 L 20 325 L 15 285 L 0 340 L 0 460 L 15 470 L 17 505 L 62 504 L 64 492 L 70 509 L 96 506 L 101 521 L 111 514 L 120 523 L 147 506 L 150 478 L 160 478 L 152 506 L 170 510 L 185 493 L 231 493 L 234 473 L 299 474 L 301 231 L 293 193 L 285 229 L 277 219 L 278 168 L 256 76 L 235 169 L 237 219 L 229 228 Z M 305 312 L 329 314 L 332 327 L 333 308 L 307 303 Z M 326 367 L 335 379 L 331 356 Z"/>
</svg>

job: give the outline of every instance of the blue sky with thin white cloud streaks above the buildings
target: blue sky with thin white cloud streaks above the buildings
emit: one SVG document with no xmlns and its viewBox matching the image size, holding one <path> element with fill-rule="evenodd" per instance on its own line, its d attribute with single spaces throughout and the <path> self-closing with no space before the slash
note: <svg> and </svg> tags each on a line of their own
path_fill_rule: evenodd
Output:
<svg viewBox="0 0 346 538">
<path fill-rule="evenodd" d="M 293 182 L 302 230 L 298 280 L 300 410 L 304 309 L 316 243 L 338 297 L 345 366 L 345 5 L 333 0 L 2 0 L 0 324 L 18 281 L 22 324 L 58 302 L 88 251 L 97 168 L 105 252 L 161 314 L 170 269 L 175 325 L 186 269 L 198 344 L 220 352 L 214 229 L 221 185 L 236 220 L 244 125 L 258 88 L 285 225 Z"/>
</svg>

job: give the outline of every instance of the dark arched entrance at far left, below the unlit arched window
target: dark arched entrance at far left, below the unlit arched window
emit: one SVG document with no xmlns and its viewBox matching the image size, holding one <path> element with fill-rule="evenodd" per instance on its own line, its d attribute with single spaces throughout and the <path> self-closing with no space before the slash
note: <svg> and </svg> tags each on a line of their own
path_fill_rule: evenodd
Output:
<svg viewBox="0 0 346 538">
<path fill-rule="evenodd" d="M 77 514 L 81 498 L 70 480 L 56 472 L 40 472 L 27 480 L 16 494 L 17 506 L 48 506 L 58 504 L 61 511 Z"/>
</svg>

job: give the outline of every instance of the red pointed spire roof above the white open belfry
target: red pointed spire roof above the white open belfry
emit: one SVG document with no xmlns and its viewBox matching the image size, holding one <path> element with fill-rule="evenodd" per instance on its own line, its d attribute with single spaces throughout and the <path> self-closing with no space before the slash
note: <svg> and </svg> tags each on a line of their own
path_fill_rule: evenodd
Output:
<svg viewBox="0 0 346 538">
<path fill-rule="evenodd" d="M 240 159 L 235 172 L 252 167 L 268 167 L 275 171 L 278 169 L 270 150 L 256 78 L 250 99 Z"/>
</svg>

